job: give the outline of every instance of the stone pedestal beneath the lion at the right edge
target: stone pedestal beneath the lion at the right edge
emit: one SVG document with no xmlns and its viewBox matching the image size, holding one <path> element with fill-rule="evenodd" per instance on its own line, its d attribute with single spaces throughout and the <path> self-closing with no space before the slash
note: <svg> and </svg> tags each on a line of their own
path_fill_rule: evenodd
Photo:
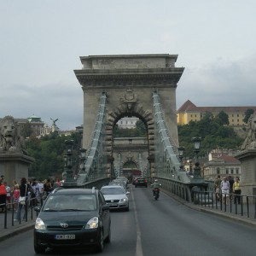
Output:
<svg viewBox="0 0 256 256">
<path fill-rule="evenodd" d="M 241 161 L 241 195 L 256 195 L 256 149 L 235 155 Z"/>
</svg>

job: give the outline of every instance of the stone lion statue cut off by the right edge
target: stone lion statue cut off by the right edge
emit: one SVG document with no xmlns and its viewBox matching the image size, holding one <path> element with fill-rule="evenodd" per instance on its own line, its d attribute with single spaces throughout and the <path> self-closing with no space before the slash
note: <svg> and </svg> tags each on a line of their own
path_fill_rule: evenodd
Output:
<svg viewBox="0 0 256 256">
<path fill-rule="evenodd" d="M 256 149 L 256 113 L 253 113 L 247 122 L 247 137 L 241 145 L 241 150 Z"/>
</svg>

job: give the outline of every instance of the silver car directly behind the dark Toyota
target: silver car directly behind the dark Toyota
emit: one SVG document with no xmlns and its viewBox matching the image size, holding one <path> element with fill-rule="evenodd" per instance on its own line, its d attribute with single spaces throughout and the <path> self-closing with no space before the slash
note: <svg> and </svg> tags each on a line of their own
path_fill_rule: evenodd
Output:
<svg viewBox="0 0 256 256">
<path fill-rule="evenodd" d="M 122 186 L 103 186 L 101 192 L 104 195 L 110 209 L 125 209 L 126 212 L 129 211 L 129 199 L 127 195 L 129 195 L 130 192 L 126 192 Z"/>
</svg>

